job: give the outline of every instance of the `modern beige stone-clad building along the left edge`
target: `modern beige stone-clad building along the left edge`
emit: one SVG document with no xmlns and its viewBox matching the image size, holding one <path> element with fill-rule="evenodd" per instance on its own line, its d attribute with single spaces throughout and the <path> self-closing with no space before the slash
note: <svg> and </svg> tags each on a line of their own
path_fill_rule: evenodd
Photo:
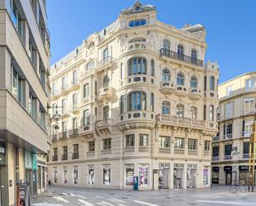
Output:
<svg viewBox="0 0 256 206">
<path fill-rule="evenodd" d="M 0 205 L 46 189 L 50 41 L 45 0 L 0 0 Z"/>
</svg>

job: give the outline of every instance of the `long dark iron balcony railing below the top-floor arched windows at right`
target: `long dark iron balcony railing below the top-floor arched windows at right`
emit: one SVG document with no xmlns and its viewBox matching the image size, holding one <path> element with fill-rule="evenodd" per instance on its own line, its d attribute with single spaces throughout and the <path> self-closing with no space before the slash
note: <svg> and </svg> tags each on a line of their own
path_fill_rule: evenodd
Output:
<svg viewBox="0 0 256 206">
<path fill-rule="evenodd" d="M 172 50 L 166 50 L 166 49 L 162 48 L 160 50 L 160 57 L 162 57 L 162 56 L 166 56 L 173 60 L 183 61 L 183 62 L 186 62 L 191 65 L 196 65 L 196 66 L 200 66 L 200 67 L 204 66 L 204 62 L 202 60 L 197 60 L 195 58 L 191 58 L 191 56 L 188 56 L 188 55 L 178 54 L 177 52 L 172 51 Z"/>
</svg>

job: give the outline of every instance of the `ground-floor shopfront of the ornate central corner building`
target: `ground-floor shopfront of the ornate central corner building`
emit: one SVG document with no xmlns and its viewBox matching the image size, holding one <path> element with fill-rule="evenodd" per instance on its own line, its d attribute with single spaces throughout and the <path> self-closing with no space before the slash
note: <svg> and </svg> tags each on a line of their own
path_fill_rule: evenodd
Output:
<svg viewBox="0 0 256 206">
<path fill-rule="evenodd" d="M 87 188 L 140 190 L 210 187 L 210 161 L 102 160 L 49 164 L 47 182 Z"/>
</svg>

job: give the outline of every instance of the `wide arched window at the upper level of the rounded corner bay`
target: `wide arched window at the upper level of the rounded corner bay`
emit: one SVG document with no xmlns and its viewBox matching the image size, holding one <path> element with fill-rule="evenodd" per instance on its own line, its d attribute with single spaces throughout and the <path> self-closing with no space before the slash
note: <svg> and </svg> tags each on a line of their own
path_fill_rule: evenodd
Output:
<svg viewBox="0 0 256 206">
<path fill-rule="evenodd" d="M 128 62 L 128 75 L 147 74 L 147 61 L 144 58 L 136 57 Z"/>
</svg>

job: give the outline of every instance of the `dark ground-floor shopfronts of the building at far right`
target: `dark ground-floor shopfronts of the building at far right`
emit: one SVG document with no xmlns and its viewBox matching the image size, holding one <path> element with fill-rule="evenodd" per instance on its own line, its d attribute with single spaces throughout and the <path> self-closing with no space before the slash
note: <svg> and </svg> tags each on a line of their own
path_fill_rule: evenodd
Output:
<svg viewBox="0 0 256 206">
<path fill-rule="evenodd" d="M 256 167 L 255 167 L 256 170 Z M 229 164 L 211 166 L 211 183 L 227 185 L 248 185 L 249 184 L 249 165 Z M 256 176 L 256 173 L 255 173 Z M 256 185 L 256 182 L 255 182 Z"/>
</svg>

